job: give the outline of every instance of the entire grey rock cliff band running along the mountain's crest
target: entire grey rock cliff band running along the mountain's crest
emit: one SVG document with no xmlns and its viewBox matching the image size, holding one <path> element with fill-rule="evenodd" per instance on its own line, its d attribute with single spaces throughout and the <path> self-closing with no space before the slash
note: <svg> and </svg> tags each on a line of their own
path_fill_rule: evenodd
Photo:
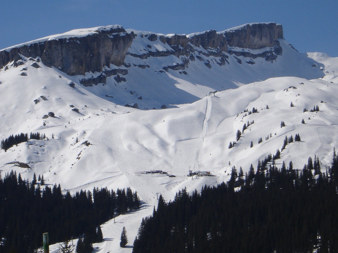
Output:
<svg viewBox="0 0 338 253">
<path fill-rule="evenodd" d="M 20 65 L 22 56 L 41 59 L 49 67 L 55 67 L 70 76 L 99 72 L 99 75 L 80 78 L 84 86 L 106 83 L 106 78 L 115 76 L 117 83 L 125 82 L 127 68 L 137 66 L 149 68 L 150 63 L 125 63 L 125 57 L 131 56 L 146 60 L 149 57 L 169 57 L 168 63 L 162 66 L 165 71 L 184 70 L 191 61 L 199 60 L 211 68 L 211 61 L 222 66 L 230 64 L 229 55 L 257 57 L 272 61 L 282 54 L 277 39 L 283 38 L 281 25 L 274 23 L 247 24 L 223 32 L 209 30 L 190 35 L 163 35 L 132 30 L 124 30 L 121 26 L 99 27 L 89 30 L 87 35 L 49 37 L 45 40 L 26 43 L 0 51 L 0 68 L 14 61 Z M 240 50 L 238 49 L 240 48 Z M 251 52 L 251 49 L 264 50 Z M 173 62 L 172 56 L 177 57 Z M 212 58 L 214 57 L 214 58 Z M 164 59 L 161 58 L 161 59 Z M 170 59 L 170 60 L 169 60 Z M 237 62 L 242 61 L 238 58 Z M 138 61 L 139 61 L 138 60 Z M 138 62 L 136 61 L 136 62 Z M 162 60 L 161 60 L 162 61 Z M 165 60 L 163 60 L 165 62 Z M 246 62 L 254 64 L 248 59 Z M 110 68 L 110 65 L 115 66 Z M 123 67 L 116 67 L 121 66 Z"/>
</svg>

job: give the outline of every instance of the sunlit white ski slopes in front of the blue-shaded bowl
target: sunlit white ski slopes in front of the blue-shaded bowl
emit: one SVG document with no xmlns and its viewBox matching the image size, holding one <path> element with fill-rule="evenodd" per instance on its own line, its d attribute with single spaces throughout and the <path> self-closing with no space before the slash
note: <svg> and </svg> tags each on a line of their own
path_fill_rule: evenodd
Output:
<svg viewBox="0 0 338 253">
<path fill-rule="evenodd" d="M 232 166 L 242 166 L 244 172 L 251 163 L 256 167 L 258 159 L 281 149 L 285 136 L 296 133 L 302 141 L 288 144 L 277 164 L 292 160 L 295 167 L 301 168 L 309 156 L 316 154 L 325 165 L 330 165 L 331 152 L 338 141 L 336 76 L 314 80 L 270 78 L 216 92 L 179 108 L 142 111 L 100 99 L 77 84 L 72 88 L 71 80 L 56 69 L 42 63 L 38 63 L 40 68 L 34 68 L 31 64 L 27 61 L 17 68 L 0 71 L 0 138 L 39 131 L 49 140 L 31 140 L 7 152 L 1 150 L 0 169 L 3 174 L 15 169 L 30 180 L 34 172 L 44 174 L 48 184 L 60 183 L 73 193 L 92 190 L 94 186 L 130 186 L 136 190 L 144 201 L 143 207 L 119 217 L 117 223 L 103 224 L 104 237 L 113 240 L 98 244 L 100 252 L 120 250 L 123 226 L 132 242 L 142 217 L 150 215 L 156 205 L 156 193 L 169 200 L 184 187 L 193 191 L 204 184 L 227 180 Z M 27 76 L 19 75 L 24 67 Z M 35 104 L 35 99 L 40 102 Z M 295 107 L 290 107 L 291 102 Z M 80 114 L 72 111 L 70 105 Z M 269 109 L 265 109 L 266 105 Z M 315 105 L 319 112 L 303 113 L 304 108 L 310 110 Z M 259 112 L 247 116 L 241 113 L 252 107 Z M 48 112 L 54 112 L 55 117 L 42 119 Z M 306 124 L 301 124 L 303 118 Z M 244 131 L 236 146 L 228 149 L 237 130 L 252 120 L 255 123 Z M 286 124 L 283 128 L 281 121 Z M 270 133 L 272 137 L 265 140 Z M 51 139 L 52 134 L 55 139 Z M 258 144 L 260 137 L 264 141 Z M 92 145 L 81 144 L 84 141 Z M 7 164 L 15 161 L 27 163 L 31 169 Z M 189 166 L 193 171 L 210 171 L 216 176 L 192 179 L 186 176 Z M 176 177 L 140 174 L 155 169 Z"/>
</svg>

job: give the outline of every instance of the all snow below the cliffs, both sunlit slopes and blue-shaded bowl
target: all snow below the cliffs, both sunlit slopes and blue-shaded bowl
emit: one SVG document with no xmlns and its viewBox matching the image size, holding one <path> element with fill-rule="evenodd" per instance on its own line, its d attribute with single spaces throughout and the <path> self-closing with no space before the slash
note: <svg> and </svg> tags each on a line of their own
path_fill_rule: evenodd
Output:
<svg viewBox="0 0 338 253">
<path fill-rule="evenodd" d="M 132 67 L 127 82 L 116 86 L 112 80 L 104 86 L 84 87 L 78 76 L 67 76 L 41 62 L 35 68 L 31 66 L 34 60 L 26 59 L 18 67 L 9 64 L 7 70 L 0 70 L 0 139 L 40 132 L 48 140 L 30 140 L 6 152 L 1 150 L 2 176 L 12 169 L 29 180 L 33 173 L 43 174 L 46 184 L 60 183 L 72 194 L 94 187 L 137 191 L 143 203 L 140 210 L 101 225 L 104 242 L 94 247 L 106 253 L 131 252 L 140 222 L 152 214 L 159 194 L 169 201 L 184 187 L 192 192 L 205 184 L 228 180 L 232 166 L 237 171 L 241 166 L 244 173 L 251 163 L 256 168 L 258 159 L 281 150 L 285 136 L 299 134 L 301 142 L 288 144 L 276 164 L 292 160 L 294 168 L 301 169 L 316 155 L 324 171 L 331 164 L 333 148 L 338 148 L 338 77 L 333 74 L 338 74 L 337 58 L 319 53 L 309 53 L 309 58 L 285 40 L 280 43 L 283 55 L 276 62 L 257 58 L 251 65 L 242 57 L 244 63 L 238 64 L 230 56 L 229 65 L 213 64 L 209 69 L 195 61 L 189 65 L 188 75 L 172 70 L 154 75 L 154 69 L 162 68 L 161 57 L 141 60 L 129 55 L 125 62 Z M 138 50 L 136 46 L 130 50 Z M 151 67 L 141 69 L 134 63 Z M 301 72 L 299 66 L 304 66 Z M 208 71 L 201 71 L 203 68 Z M 27 75 L 20 75 L 23 72 Z M 69 85 L 72 82 L 73 87 Z M 222 91 L 208 95 L 214 90 Z M 126 100 L 148 110 L 124 107 Z M 152 105 L 159 109 L 162 104 L 168 109 L 150 110 Z M 310 112 L 316 105 L 320 111 Z M 252 108 L 258 113 L 243 112 Z M 304 108 L 308 112 L 303 112 Z M 49 112 L 55 116 L 43 119 Z M 229 149 L 237 130 L 252 121 Z M 281 121 L 286 125 L 283 128 Z M 26 163 L 30 168 L 12 162 Z M 189 169 L 210 171 L 215 176 L 188 177 Z M 150 170 L 163 170 L 175 177 L 142 173 Z M 124 249 L 119 247 L 123 226 L 130 246 Z M 57 245 L 51 246 L 51 252 L 56 249 Z"/>
</svg>

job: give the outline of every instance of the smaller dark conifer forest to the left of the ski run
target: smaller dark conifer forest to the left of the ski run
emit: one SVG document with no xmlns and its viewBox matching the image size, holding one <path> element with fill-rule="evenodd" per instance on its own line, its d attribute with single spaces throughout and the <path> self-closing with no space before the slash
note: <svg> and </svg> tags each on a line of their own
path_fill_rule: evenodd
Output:
<svg viewBox="0 0 338 253">
<path fill-rule="evenodd" d="M 139 207 L 137 192 L 130 188 L 71 195 L 56 184 L 42 189 L 13 170 L 4 177 L 0 173 L 0 252 L 31 253 L 42 246 L 44 232 L 50 244 L 82 237 L 91 244 L 100 240 L 100 224 Z"/>
</svg>

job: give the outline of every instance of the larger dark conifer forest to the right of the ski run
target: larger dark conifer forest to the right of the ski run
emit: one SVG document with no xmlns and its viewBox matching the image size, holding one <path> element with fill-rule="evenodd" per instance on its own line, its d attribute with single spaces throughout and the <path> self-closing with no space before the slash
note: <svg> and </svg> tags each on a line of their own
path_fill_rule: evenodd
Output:
<svg viewBox="0 0 338 253">
<path fill-rule="evenodd" d="M 159 197 L 134 241 L 139 252 L 338 252 L 338 158 L 320 171 L 316 157 L 302 170 L 270 164 L 204 186 L 174 200 Z"/>
</svg>

